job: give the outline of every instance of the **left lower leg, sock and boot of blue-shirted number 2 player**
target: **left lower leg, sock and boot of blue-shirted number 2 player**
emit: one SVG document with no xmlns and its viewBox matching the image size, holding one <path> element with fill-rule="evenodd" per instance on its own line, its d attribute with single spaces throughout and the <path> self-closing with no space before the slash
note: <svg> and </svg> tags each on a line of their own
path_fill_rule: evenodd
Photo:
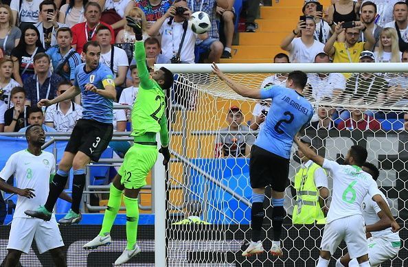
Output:
<svg viewBox="0 0 408 267">
<path fill-rule="evenodd" d="M 264 198 L 265 187 L 252 189 L 252 209 L 251 209 L 251 227 L 252 239 L 249 246 L 242 253 L 242 256 L 248 257 L 251 255 L 264 252 L 264 247 L 261 241 L 262 222 L 264 221 Z"/>
</svg>

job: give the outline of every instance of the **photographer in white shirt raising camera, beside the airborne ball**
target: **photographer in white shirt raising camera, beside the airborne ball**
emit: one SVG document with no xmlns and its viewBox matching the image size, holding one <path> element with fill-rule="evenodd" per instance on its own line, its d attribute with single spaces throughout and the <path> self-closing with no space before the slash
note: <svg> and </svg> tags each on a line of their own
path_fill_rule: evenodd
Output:
<svg viewBox="0 0 408 267">
<path fill-rule="evenodd" d="M 161 35 L 163 56 L 171 58 L 172 63 L 194 63 L 194 45 L 197 36 L 201 39 L 207 34 L 195 34 L 188 27 L 192 12 L 185 1 L 174 1 L 174 4 L 148 30 L 148 35 Z M 183 38 L 184 35 L 184 38 Z M 183 40 L 183 41 L 182 41 Z"/>
</svg>

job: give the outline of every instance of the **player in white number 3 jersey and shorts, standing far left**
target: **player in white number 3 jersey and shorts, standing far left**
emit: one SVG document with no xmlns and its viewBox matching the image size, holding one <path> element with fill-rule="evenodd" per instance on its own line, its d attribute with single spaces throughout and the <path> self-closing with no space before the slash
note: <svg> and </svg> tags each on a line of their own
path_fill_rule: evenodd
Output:
<svg viewBox="0 0 408 267">
<path fill-rule="evenodd" d="M 18 194 L 5 266 L 16 266 L 21 253 L 28 253 L 32 240 L 36 240 L 38 251 L 49 251 L 56 266 L 67 266 L 64 243 L 58 224 L 53 216 L 48 222 L 30 218 L 26 209 L 36 209 L 47 200 L 49 182 L 55 174 L 54 155 L 41 151 L 45 143 L 45 132 L 41 126 L 30 126 L 25 131 L 28 148 L 10 156 L 0 172 L 0 189 Z M 16 187 L 5 181 L 14 176 Z M 22 189 L 24 188 L 24 189 Z"/>
</svg>

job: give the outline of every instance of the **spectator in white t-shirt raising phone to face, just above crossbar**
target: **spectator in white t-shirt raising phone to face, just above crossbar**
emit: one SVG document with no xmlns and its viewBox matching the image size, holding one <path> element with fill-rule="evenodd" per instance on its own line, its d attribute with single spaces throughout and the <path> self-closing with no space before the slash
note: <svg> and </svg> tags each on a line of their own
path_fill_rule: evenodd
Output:
<svg viewBox="0 0 408 267">
<path fill-rule="evenodd" d="M 300 16 L 297 27 L 286 36 L 280 48 L 290 53 L 293 63 L 313 63 L 315 56 L 323 52 L 324 45 L 315 40 L 316 23 L 313 16 Z M 302 33 L 302 37 L 296 37 Z"/>
</svg>

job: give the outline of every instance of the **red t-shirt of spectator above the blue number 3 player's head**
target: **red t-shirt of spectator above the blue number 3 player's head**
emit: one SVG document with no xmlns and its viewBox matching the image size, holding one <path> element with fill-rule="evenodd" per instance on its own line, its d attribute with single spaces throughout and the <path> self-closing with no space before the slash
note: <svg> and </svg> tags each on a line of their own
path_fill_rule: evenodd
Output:
<svg viewBox="0 0 408 267">
<path fill-rule="evenodd" d="M 104 23 L 103 21 L 100 21 L 101 25 L 105 25 L 106 27 L 109 27 L 109 30 L 111 30 L 111 44 L 113 45 L 115 43 L 115 32 L 113 32 L 113 29 L 111 27 L 111 25 L 108 25 L 106 23 Z M 85 27 L 87 27 L 87 31 L 85 32 Z M 98 27 L 98 26 L 96 26 Z M 86 22 L 82 22 L 82 23 L 78 23 L 76 25 L 74 25 L 71 28 L 72 31 L 72 45 L 76 45 L 76 51 L 81 54 L 82 53 L 82 49 L 84 48 L 84 45 L 88 42 L 87 40 L 87 36 L 92 36 L 91 40 L 95 40 L 96 39 L 96 27 L 94 27 L 93 29 L 91 29 L 90 27 L 88 27 Z"/>
</svg>

